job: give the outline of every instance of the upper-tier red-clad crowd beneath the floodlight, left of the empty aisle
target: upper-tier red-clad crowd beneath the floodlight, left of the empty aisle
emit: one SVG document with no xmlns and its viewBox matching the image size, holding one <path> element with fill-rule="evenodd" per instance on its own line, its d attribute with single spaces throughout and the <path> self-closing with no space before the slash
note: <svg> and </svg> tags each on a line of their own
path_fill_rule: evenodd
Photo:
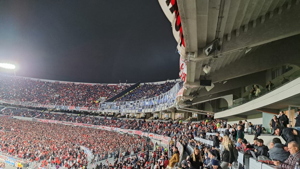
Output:
<svg viewBox="0 0 300 169">
<path fill-rule="evenodd" d="M 40 104 L 97 107 L 100 97 L 111 98 L 128 87 L 48 82 L 0 75 L 0 99 Z"/>
</svg>

